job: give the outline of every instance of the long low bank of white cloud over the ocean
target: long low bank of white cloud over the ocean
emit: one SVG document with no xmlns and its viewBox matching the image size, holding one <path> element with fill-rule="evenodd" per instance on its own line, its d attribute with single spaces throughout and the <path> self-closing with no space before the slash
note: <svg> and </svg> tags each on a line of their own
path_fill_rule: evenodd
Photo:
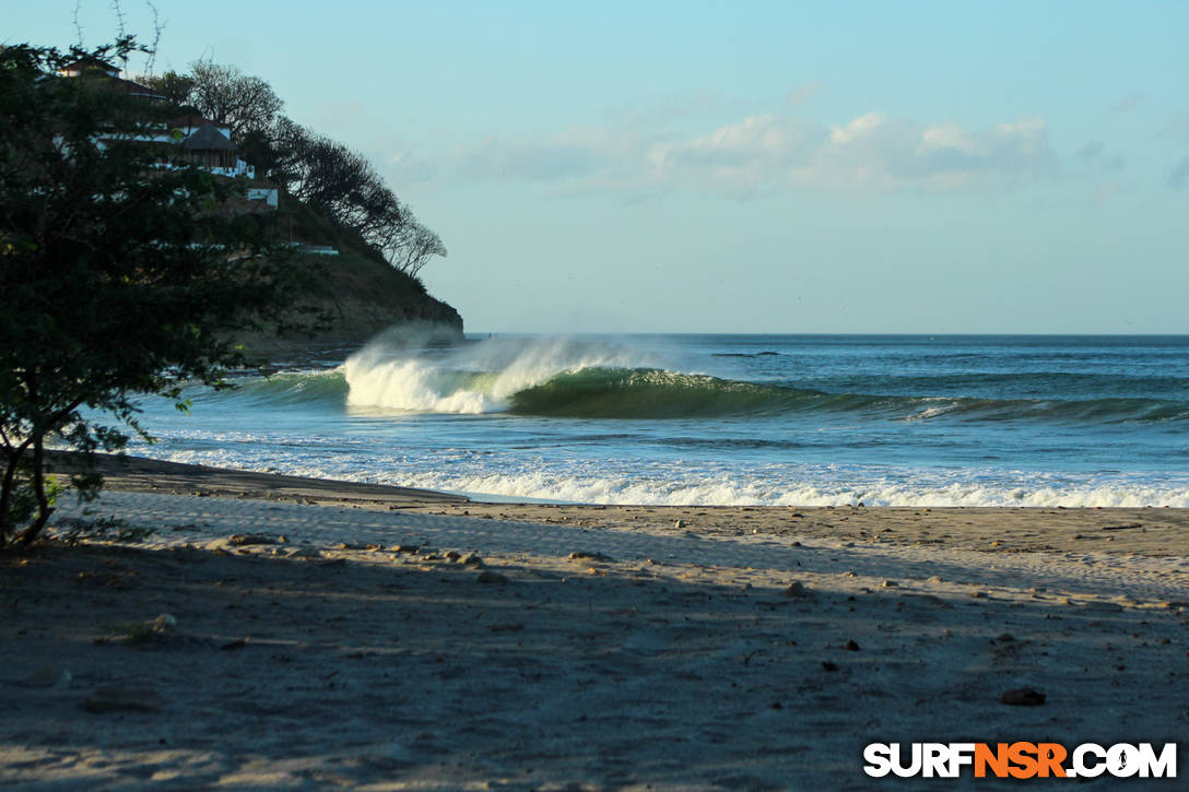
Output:
<svg viewBox="0 0 1189 792">
<path fill-rule="evenodd" d="M 545 139 L 489 138 L 465 157 L 472 176 L 655 190 L 703 188 L 887 191 L 988 187 L 1053 174 L 1042 119 L 979 131 L 866 113 L 824 127 L 793 114 L 755 114 L 700 134 L 571 130 Z"/>
</svg>

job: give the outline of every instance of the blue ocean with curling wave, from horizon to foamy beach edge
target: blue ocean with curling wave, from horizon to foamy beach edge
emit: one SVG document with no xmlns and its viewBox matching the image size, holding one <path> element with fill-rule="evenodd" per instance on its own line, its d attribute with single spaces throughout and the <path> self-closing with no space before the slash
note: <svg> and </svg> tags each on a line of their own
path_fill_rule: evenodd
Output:
<svg viewBox="0 0 1189 792">
<path fill-rule="evenodd" d="M 145 400 L 130 453 L 567 503 L 1189 507 L 1189 337 L 536 335 Z"/>
</svg>

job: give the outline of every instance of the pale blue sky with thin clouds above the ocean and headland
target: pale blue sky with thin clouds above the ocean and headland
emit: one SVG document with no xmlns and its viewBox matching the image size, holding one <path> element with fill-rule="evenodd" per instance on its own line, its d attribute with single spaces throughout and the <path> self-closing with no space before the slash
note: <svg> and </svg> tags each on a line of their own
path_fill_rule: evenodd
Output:
<svg viewBox="0 0 1189 792">
<path fill-rule="evenodd" d="M 2 1 L 0 43 L 157 27 Z M 155 71 L 375 163 L 468 332 L 1189 333 L 1189 2 L 155 6 Z"/>
</svg>

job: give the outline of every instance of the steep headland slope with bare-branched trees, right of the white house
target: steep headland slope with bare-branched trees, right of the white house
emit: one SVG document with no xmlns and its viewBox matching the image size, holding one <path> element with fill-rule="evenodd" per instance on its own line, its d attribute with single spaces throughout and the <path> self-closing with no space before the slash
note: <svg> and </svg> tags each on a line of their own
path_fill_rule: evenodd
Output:
<svg viewBox="0 0 1189 792">
<path fill-rule="evenodd" d="M 181 113 L 231 131 L 257 177 L 277 186 L 279 208 L 263 219 L 282 243 L 333 247 L 336 256 L 298 253 L 303 312 L 322 313 L 326 329 L 243 340 L 253 357 L 309 344 L 363 342 L 385 327 L 430 321 L 463 332 L 463 319 L 427 291 L 419 272 L 446 256 L 439 235 L 385 184 L 359 152 L 281 114 L 284 102 L 259 77 L 196 62 L 190 71 L 140 77 Z"/>
</svg>

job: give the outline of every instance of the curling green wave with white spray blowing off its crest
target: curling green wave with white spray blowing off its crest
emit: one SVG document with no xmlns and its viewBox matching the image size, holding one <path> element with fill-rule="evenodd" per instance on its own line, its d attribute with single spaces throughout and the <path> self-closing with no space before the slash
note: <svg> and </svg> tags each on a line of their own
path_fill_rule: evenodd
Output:
<svg viewBox="0 0 1189 792">
<path fill-rule="evenodd" d="M 490 339 L 429 351 L 379 342 L 334 370 L 284 372 L 243 382 L 232 398 L 276 404 L 323 402 L 334 408 L 346 403 L 360 411 L 571 419 L 863 414 L 907 422 L 1189 422 L 1189 402 L 1175 397 L 1102 396 L 1101 391 L 1097 397 L 1077 397 L 1076 376 L 1069 388 L 1051 383 L 1050 392 L 1070 397 L 987 398 L 929 394 L 931 383 L 924 381 L 900 381 L 901 392 L 897 394 L 830 392 L 800 388 L 795 382 L 748 382 L 678 369 L 673 362 L 646 352 L 596 341 Z M 924 392 L 905 394 L 906 384 Z M 950 388 L 949 383 L 933 384 Z"/>
</svg>

